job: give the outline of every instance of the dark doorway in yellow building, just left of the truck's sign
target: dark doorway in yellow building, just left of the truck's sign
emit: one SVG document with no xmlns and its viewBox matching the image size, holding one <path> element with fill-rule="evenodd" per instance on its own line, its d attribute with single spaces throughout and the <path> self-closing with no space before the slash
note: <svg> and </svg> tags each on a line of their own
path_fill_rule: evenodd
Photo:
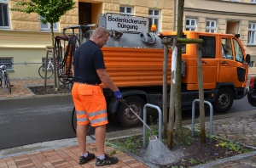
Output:
<svg viewBox="0 0 256 168">
<path fill-rule="evenodd" d="M 79 25 L 91 24 L 91 3 L 79 3 Z"/>
</svg>

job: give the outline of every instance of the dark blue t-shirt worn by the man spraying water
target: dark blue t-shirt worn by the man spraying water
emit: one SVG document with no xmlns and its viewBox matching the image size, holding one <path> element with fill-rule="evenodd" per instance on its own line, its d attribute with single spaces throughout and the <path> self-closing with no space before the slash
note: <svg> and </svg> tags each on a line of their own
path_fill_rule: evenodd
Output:
<svg viewBox="0 0 256 168">
<path fill-rule="evenodd" d="M 96 73 L 98 69 L 106 69 L 102 50 L 96 46 L 95 42 L 83 43 L 73 56 L 73 81 L 83 83 L 97 83 L 102 81 Z"/>
</svg>

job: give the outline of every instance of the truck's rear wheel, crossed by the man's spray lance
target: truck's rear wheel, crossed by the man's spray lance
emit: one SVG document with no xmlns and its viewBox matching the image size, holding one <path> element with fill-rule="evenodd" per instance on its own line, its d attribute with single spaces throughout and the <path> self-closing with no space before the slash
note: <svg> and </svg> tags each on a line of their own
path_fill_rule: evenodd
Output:
<svg viewBox="0 0 256 168">
<path fill-rule="evenodd" d="M 141 119 L 143 119 L 143 107 L 145 103 L 142 98 L 131 96 L 125 98 L 125 102 L 131 107 L 131 109 L 133 109 L 135 113 L 137 113 L 138 116 L 141 117 Z M 137 126 L 138 124 L 142 123 L 142 121 L 139 120 L 137 116 L 134 115 L 131 110 L 122 103 L 119 105 L 117 115 L 119 123 L 125 127 Z"/>
</svg>

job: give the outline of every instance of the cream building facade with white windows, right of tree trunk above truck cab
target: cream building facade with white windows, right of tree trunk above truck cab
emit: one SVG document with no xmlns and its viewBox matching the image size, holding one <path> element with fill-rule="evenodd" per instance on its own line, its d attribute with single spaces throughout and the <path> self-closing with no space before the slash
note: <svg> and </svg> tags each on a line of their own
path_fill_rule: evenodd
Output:
<svg viewBox="0 0 256 168">
<path fill-rule="evenodd" d="M 185 0 L 183 30 L 240 34 L 256 61 L 256 0 Z"/>
</svg>

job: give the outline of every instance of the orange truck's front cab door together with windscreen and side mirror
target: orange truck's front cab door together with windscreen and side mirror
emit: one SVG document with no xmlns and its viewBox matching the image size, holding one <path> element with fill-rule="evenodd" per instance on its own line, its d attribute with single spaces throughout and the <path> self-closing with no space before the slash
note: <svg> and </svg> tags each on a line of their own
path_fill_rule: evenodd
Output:
<svg viewBox="0 0 256 168">
<path fill-rule="evenodd" d="M 246 64 L 239 42 L 235 38 L 222 37 L 221 57 L 219 59 L 218 82 L 234 83 L 235 87 L 242 87 L 246 80 Z"/>
</svg>

